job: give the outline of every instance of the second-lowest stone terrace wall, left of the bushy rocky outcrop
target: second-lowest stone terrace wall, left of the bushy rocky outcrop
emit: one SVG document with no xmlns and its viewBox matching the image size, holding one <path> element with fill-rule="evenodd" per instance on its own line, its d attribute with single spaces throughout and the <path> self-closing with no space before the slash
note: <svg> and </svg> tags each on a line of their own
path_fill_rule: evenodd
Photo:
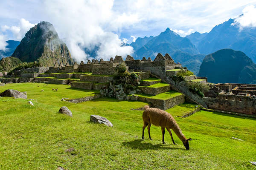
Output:
<svg viewBox="0 0 256 170">
<path fill-rule="evenodd" d="M 84 75 L 80 76 L 81 82 L 97 82 L 97 83 L 105 83 L 113 80 L 113 75 Z"/>
</svg>

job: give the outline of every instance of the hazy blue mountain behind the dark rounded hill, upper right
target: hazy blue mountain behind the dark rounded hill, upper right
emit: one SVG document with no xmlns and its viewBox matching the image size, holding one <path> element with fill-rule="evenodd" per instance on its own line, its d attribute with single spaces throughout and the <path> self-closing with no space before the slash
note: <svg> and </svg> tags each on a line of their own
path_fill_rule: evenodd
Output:
<svg viewBox="0 0 256 170">
<path fill-rule="evenodd" d="M 201 54 L 232 48 L 243 51 L 256 62 L 256 28 L 239 29 L 234 19 L 215 26 L 209 33 L 193 33 L 186 37 L 197 46 Z"/>
</svg>

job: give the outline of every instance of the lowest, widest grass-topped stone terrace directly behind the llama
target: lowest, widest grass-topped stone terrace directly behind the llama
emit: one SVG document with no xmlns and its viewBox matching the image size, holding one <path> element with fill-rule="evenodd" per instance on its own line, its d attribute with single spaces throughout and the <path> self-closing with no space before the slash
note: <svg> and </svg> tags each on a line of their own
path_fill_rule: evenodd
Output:
<svg viewBox="0 0 256 170">
<path fill-rule="evenodd" d="M 151 107 L 167 110 L 176 105 L 185 102 L 185 95 L 176 91 L 168 91 L 156 96 L 147 94 L 134 94 L 130 96 L 130 100 L 140 100 L 143 102 L 150 102 Z"/>
</svg>

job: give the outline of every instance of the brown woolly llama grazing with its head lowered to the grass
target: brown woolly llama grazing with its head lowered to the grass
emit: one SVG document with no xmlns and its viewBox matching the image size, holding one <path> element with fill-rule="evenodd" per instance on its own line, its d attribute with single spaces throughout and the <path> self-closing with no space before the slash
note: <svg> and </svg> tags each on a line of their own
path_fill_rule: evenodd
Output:
<svg viewBox="0 0 256 170">
<path fill-rule="evenodd" d="M 176 133 L 176 135 L 179 137 L 179 139 L 183 142 L 184 146 L 186 147 L 186 150 L 189 150 L 189 141 L 191 141 L 192 139 L 191 138 L 186 139 L 186 137 L 183 135 L 182 131 L 180 130 L 180 127 L 178 126 L 177 122 L 175 121 L 175 119 L 172 117 L 170 113 L 167 113 L 166 111 L 163 111 L 158 108 L 149 108 L 149 106 L 145 106 L 144 109 L 145 111 L 143 112 L 143 115 L 142 115 L 143 122 L 144 122 L 144 125 L 142 127 L 143 129 L 142 139 L 144 139 L 145 127 L 148 126 L 148 136 L 149 136 L 149 139 L 152 140 L 150 136 L 150 127 L 151 127 L 151 124 L 153 124 L 158 127 L 161 126 L 162 135 L 163 135 L 163 139 L 162 139 L 163 144 L 165 144 L 164 142 L 165 128 L 169 132 L 172 138 L 173 144 L 175 144 L 172 137 L 172 132 L 171 132 L 171 129 L 172 129 Z"/>
</svg>

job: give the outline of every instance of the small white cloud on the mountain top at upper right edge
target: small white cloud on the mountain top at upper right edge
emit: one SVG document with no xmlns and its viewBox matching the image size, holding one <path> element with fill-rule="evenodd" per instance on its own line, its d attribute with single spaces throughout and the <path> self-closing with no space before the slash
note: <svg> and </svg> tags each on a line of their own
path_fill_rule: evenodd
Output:
<svg viewBox="0 0 256 170">
<path fill-rule="evenodd" d="M 253 5 L 243 9 L 243 15 L 235 19 L 233 25 L 238 25 L 240 30 L 247 27 L 256 27 L 256 8 Z"/>
</svg>

